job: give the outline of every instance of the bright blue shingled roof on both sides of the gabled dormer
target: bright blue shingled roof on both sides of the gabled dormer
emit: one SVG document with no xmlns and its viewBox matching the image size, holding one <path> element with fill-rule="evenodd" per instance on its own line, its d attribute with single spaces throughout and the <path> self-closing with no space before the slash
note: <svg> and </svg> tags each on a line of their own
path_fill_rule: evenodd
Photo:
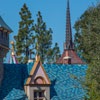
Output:
<svg viewBox="0 0 100 100">
<path fill-rule="evenodd" d="M 79 80 L 86 76 L 87 65 L 43 65 L 49 79 L 51 100 L 80 100 L 85 91 Z M 24 83 L 33 64 L 4 64 L 4 80 L 0 88 L 0 100 L 28 100 L 24 92 Z"/>
</svg>

